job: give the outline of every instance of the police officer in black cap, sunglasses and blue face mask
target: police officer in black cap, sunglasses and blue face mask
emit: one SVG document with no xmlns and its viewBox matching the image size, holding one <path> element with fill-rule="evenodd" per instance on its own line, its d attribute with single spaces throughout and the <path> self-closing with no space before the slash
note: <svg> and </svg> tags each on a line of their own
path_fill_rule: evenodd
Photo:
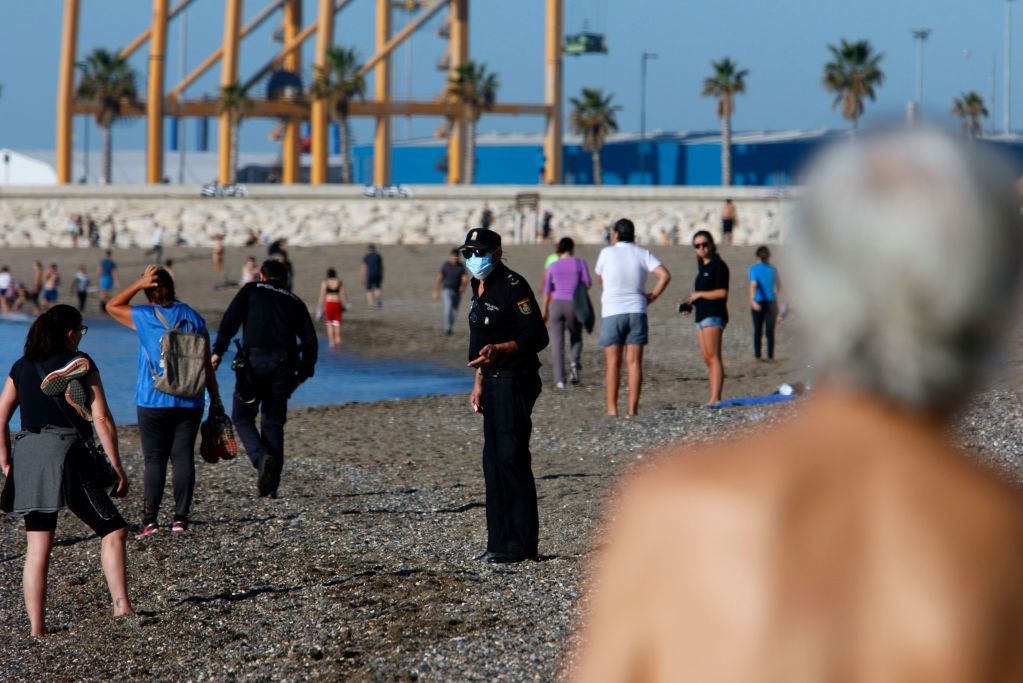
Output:
<svg viewBox="0 0 1023 683">
<path fill-rule="evenodd" d="M 470 397 L 483 413 L 483 479 L 487 491 L 487 562 L 536 559 L 539 520 L 531 468 L 530 415 L 540 395 L 547 327 L 529 283 L 501 263 L 501 237 L 471 230 L 461 246 L 473 274 L 469 366 L 477 369 Z"/>
</svg>

